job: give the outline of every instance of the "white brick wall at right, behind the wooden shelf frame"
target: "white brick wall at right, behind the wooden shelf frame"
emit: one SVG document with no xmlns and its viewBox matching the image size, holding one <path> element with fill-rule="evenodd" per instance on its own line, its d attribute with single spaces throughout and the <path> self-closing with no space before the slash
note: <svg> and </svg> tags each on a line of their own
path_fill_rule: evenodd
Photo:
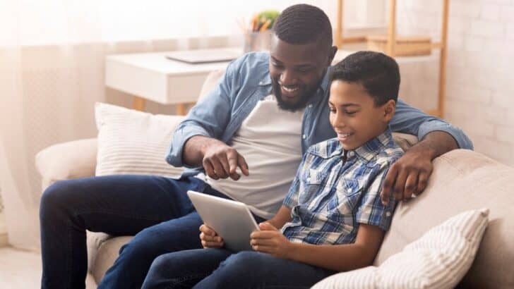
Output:
<svg viewBox="0 0 514 289">
<path fill-rule="evenodd" d="M 439 39 L 443 1 L 399 0 L 400 35 Z M 445 118 L 514 166 L 514 0 L 451 0 Z"/>
</svg>

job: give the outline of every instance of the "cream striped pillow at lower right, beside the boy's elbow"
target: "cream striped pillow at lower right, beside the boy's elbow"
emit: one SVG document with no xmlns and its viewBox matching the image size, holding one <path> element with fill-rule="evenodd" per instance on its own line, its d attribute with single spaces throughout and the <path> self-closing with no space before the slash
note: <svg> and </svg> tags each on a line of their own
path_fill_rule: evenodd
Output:
<svg viewBox="0 0 514 289">
<path fill-rule="evenodd" d="M 465 211 L 438 225 L 380 266 L 337 273 L 314 289 L 454 288 L 477 253 L 489 209 Z"/>
</svg>

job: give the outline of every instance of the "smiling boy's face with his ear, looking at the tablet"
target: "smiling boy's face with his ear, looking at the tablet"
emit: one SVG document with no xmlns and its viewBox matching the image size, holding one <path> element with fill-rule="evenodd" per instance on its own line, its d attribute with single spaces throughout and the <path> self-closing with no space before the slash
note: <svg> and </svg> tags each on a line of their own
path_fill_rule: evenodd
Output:
<svg viewBox="0 0 514 289">
<path fill-rule="evenodd" d="M 343 149 L 357 149 L 384 130 L 395 114 L 395 101 L 375 106 L 357 82 L 334 80 L 330 85 L 330 124 Z"/>
</svg>

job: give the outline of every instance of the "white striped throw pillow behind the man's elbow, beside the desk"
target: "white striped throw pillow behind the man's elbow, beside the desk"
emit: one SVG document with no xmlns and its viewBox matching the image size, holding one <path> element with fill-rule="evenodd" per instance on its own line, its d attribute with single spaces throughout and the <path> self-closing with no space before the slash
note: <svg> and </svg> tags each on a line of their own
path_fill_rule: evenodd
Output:
<svg viewBox="0 0 514 289">
<path fill-rule="evenodd" d="M 95 104 L 98 152 L 95 175 L 137 174 L 175 177 L 167 164 L 172 135 L 184 116 L 153 115 L 112 104 Z"/>
</svg>

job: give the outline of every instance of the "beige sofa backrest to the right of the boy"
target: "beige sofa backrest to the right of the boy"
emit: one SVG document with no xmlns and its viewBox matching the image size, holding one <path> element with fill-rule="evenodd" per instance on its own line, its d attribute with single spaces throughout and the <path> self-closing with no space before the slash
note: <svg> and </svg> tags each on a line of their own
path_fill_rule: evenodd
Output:
<svg viewBox="0 0 514 289">
<path fill-rule="evenodd" d="M 434 160 L 429 185 L 398 205 L 375 264 L 383 263 L 430 228 L 469 209 L 490 209 L 489 226 L 463 288 L 514 288 L 514 168 L 458 149 Z"/>
</svg>

